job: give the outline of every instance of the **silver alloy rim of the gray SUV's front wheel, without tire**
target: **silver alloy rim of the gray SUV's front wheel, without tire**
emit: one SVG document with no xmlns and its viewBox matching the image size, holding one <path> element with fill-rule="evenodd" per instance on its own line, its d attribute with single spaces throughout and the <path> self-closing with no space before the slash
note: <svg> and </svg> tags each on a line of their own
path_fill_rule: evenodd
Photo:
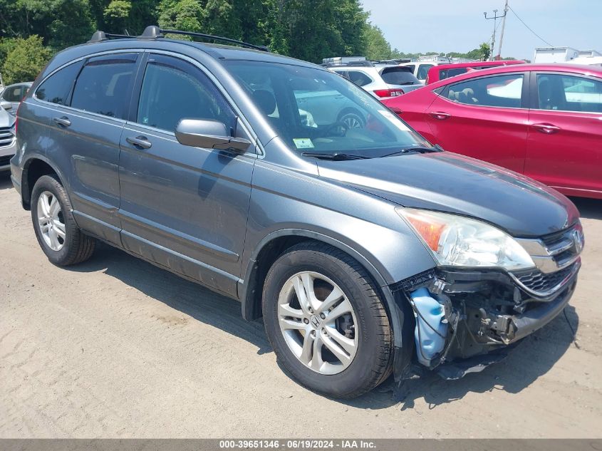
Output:
<svg viewBox="0 0 602 451">
<path fill-rule="evenodd" d="M 313 271 L 286 281 L 278 299 L 280 330 L 296 358 L 320 374 L 336 374 L 358 348 L 356 313 L 341 288 Z"/>
</svg>

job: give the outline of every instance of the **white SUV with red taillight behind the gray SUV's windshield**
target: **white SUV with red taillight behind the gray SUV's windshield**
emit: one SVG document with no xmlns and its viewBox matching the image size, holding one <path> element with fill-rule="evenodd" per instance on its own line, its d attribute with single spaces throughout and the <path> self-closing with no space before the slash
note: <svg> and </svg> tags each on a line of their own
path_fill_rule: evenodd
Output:
<svg viewBox="0 0 602 451">
<path fill-rule="evenodd" d="M 423 86 L 408 68 L 393 64 L 356 61 L 328 66 L 328 69 L 348 78 L 378 99 L 396 97 Z"/>
</svg>

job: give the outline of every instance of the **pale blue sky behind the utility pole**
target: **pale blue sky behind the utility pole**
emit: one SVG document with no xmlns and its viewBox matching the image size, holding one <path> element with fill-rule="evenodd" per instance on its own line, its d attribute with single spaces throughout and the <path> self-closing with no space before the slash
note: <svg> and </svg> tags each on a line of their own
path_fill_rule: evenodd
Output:
<svg viewBox="0 0 602 451">
<path fill-rule="evenodd" d="M 493 20 L 485 20 L 505 0 L 363 0 L 370 21 L 383 30 L 392 48 L 417 53 L 467 52 L 491 43 Z M 509 0 L 509 6 L 552 46 L 602 52 L 602 0 Z M 495 53 L 502 30 L 498 19 Z M 508 11 L 502 56 L 532 59 L 536 47 L 546 47 L 517 16 Z"/>
</svg>

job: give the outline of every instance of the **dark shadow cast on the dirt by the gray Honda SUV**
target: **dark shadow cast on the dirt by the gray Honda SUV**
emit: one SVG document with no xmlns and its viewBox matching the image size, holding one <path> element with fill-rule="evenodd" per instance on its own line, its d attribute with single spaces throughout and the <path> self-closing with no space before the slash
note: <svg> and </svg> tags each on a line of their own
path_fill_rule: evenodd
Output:
<svg viewBox="0 0 602 451">
<path fill-rule="evenodd" d="M 197 321 L 249 341 L 257 347 L 259 354 L 272 351 L 263 323 L 244 321 L 238 301 L 214 294 L 202 286 L 185 281 L 106 244 L 99 245 L 90 261 L 70 269 L 78 272 L 103 271 Z M 567 313 L 576 330 L 578 317 L 574 309 L 569 307 Z M 518 393 L 554 366 L 571 346 L 571 342 L 571 329 L 561 315 L 542 330 L 525 338 L 505 361 L 482 373 L 469 374 L 460 380 L 451 381 L 442 380 L 433 373 L 420 380 L 409 381 L 410 392 L 401 408 L 412 408 L 414 401 L 420 398 L 424 398 L 430 408 L 435 408 L 437 405 L 460 400 L 467 393 L 487 393 L 492 390 Z M 339 402 L 357 408 L 388 408 L 398 404 L 398 400 L 393 397 L 393 385 L 393 379 L 390 378 L 367 395 Z"/>
</svg>

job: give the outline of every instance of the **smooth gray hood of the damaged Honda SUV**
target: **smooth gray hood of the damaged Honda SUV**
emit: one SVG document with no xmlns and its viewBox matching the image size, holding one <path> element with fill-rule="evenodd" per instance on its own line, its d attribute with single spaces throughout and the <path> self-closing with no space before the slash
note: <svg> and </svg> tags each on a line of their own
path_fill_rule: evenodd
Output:
<svg viewBox="0 0 602 451">
<path fill-rule="evenodd" d="M 321 177 L 404 207 L 462 214 L 514 237 L 541 237 L 578 221 L 574 204 L 516 172 L 452 152 L 318 160 Z"/>
</svg>

